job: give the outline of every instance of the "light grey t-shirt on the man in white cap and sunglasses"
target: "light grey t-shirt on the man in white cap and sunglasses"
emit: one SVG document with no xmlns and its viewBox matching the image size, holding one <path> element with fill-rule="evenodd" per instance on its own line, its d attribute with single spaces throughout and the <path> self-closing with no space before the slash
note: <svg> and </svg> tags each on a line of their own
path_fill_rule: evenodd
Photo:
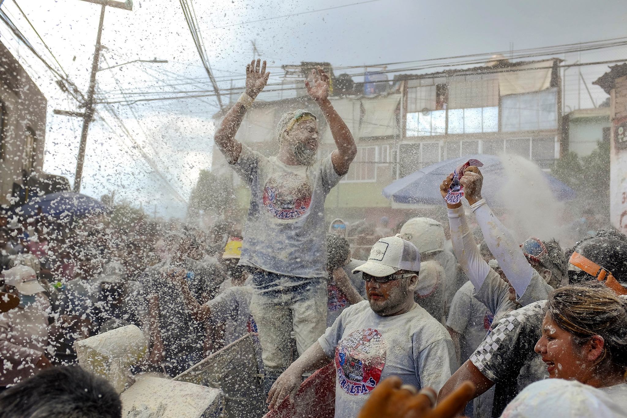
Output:
<svg viewBox="0 0 627 418">
<path fill-rule="evenodd" d="M 338 418 L 357 417 L 372 389 L 389 376 L 438 392 L 456 363 L 446 328 L 417 304 L 403 315 L 379 316 L 362 301 L 346 308 L 318 342 L 334 358 Z"/>
</svg>

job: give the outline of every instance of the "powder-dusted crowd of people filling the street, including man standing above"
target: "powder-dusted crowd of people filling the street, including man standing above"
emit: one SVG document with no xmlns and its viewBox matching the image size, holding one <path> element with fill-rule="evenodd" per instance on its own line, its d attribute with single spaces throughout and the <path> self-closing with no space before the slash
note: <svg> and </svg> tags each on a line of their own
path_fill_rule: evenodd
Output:
<svg viewBox="0 0 627 418">
<path fill-rule="evenodd" d="M 276 157 L 235 139 L 265 67 L 248 65 L 246 92 L 215 135 L 250 187 L 243 228 L 0 216 L 0 408 L 19 409 L 24 392 L 54 379 L 39 373 L 51 368 L 95 388 L 66 408 L 106 401 L 117 416 L 106 384 L 67 366 L 76 341 L 137 325 L 149 354 L 134 373 L 169 377 L 256 333 L 270 410 L 298 402 L 303 380 L 332 363 L 335 417 L 625 416 L 624 234 L 599 229 L 570 249 L 519 243 L 470 166 L 441 184 L 446 228 L 415 217 L 396 233 L 381 222 L 366 259 L 352 258 L 347 225 L 325 221 L 325 197 L 356 155 L 327 98 L 329 76 L 318 68 L 306 87 L 332 154 L 316 159 L 317 116 L 305 110 L 280 119 Z M 468 207 L 446 200 L 455 181 Z"/>
</svg>

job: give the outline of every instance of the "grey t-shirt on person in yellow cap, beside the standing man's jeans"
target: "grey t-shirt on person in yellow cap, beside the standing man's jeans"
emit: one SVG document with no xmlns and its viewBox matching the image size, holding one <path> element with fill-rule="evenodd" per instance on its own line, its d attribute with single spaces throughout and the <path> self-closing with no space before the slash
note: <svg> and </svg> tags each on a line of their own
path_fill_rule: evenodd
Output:
<svg viewBox="0 0 627 418">
<path fill-rule="evenodd" d="M 250 313 L 252 297 L 252 286 L 231 286 L 205 303 L 211 308 L 211 317 L 214 321 L 224 321 L 225 346 L 249 332 L 256 331 L 255 321 Z"/>
</svg>

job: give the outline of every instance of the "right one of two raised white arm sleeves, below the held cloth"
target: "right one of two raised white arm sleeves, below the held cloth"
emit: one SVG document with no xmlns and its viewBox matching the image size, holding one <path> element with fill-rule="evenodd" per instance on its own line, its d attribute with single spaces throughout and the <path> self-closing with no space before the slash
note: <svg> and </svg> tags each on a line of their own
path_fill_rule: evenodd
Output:
<svg viewBox="0 0 627 418">
<path fill-rule="evenodd" d="M 516 295 L 520 298 L 529 286 L 533 268 L 530 266 L 525 254 L 522 253 L 514 236 L 503 226 L 501 221 L 492 213 L 492 209 L 485 203 L 485 199 L 478 201 L 470 207 L 475 212 L 477 223 L 483 232 L 483 238 L 497 259 L 498 265 L 503 269 L 505 277 L 510 281 Z"/>
</svg>

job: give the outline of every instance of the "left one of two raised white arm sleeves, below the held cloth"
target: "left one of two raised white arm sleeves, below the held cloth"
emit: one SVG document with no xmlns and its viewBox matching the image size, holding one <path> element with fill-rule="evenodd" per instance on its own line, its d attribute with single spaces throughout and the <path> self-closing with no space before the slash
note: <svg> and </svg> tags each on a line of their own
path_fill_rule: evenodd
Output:
<svg viewBox="0 0 627 418">
<path fill-rule="evenodd" d="M 457 261 L 475 289 L 479 290 L 490 272 L 490 266 L 479 253 L 463 207 L 448 209 L 448 224 L 451 227 L 451 241 Z"/>
</svg>

